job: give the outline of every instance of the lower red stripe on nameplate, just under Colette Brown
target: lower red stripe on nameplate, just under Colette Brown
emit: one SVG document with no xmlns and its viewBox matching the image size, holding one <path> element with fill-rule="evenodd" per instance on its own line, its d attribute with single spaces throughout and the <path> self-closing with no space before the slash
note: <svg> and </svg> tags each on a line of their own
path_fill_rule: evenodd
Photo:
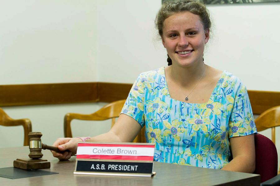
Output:
<svg viewBox="0 0 280 186">
<path fill-rule="evenodd" d="M 107 155 L 77 155 L 76 159 L 103 159 L 103 160 L 139 160 L 153 161 L 152 156 L 107 156 Z"/>
</svg>

